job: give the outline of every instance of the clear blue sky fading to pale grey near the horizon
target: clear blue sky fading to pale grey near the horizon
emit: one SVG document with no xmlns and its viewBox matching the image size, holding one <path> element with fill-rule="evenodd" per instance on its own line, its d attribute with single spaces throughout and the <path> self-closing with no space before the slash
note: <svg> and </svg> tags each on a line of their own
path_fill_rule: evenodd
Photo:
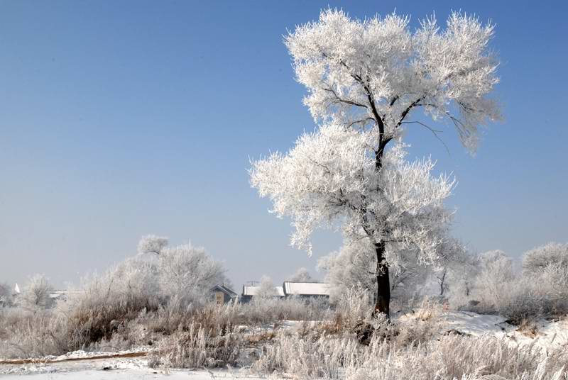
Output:
<svg viewBox="0 0 568 380">
<path fill-rule="evenodd" d="M 321 8 L 417 20 L 451 9 L 497 23 L 503 123 L 476 157 L 408 131 L 459 185 L 455 235 L 513 256 L 568 241 L 566 1 L 1 1 L 0 281 L 60 286 L 135 253 L 141 235 L 191 240 L 243 281 L 280 281 L 315 255 L 249 186 L 249 157 L 314 123 L 282 43 Z"/>
</svg>

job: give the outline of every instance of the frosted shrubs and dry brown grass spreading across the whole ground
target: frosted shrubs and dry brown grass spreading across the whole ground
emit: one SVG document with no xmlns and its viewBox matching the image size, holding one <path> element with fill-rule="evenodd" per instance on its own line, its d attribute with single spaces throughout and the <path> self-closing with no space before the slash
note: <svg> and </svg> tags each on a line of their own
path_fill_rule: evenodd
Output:
<svg viewBox="0 0 568 380">
<path fill-rule="evenodd" d="M 163 238 L 154 239 L 160 244 L 146 240 L 146 246 L 170 250 Z M 127 259 L 84 279 L 82 291 L 53 305 L 45 296 L 51 289 L 45 277 L 33 276 L 23 303 L 0 308 L 0 357 L 137 349 L 148 351 L 148 365 L 156 368 L 229 366 L 298 379 L 567 379 L 567 347 L 444 333 L 441 318 L 448 308 L 501 314 L 518 325 L 565 318 L 564 247 L 528 252 L 518 273 L 500 251 L 469 257 L 470 275 L 448 275 L 443 286 L 432 272 L 422 286 L 413 284 L 412 294 L 395 293 L 393 305 L 401 311 L 391 320 L 373 315 L 373 294 L 360 283 L 342 283 L 332 303 L 266 294 L 219 306 L 203 291 L 210 286 L 204 279 L 164 288 L 168 263 L 161 257 Z M 195 252 L 199 259 L 193 261 Z M 222 267 L 204 250 L 184 247 L 177 255 L 173 272 L 193 271 L 200 262 L 215 279 L 224 279 Z M 430 289 L 429 281 L 445 294 L 415 291 Z"/>
</svg>

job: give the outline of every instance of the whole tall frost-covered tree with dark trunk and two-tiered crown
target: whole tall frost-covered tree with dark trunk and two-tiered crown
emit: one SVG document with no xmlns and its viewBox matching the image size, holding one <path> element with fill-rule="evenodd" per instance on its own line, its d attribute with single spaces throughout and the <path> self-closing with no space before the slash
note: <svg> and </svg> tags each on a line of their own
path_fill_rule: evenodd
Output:
<svg viewBox="0 0 568 380">
<path fill-rule="evenodd" d="M 251 169 L 253 186 L 271 197 L 273 211 L 292 218 L 293 244 L 310 250 L 313 228 L 333 223 L 343 225 L 346 240 L 369 240 L 376 310 L 387 314 L 395 252 L 413 249 L 419 262 L 435 258 L 452 182 L 430 177 L 430 160 L 406 164 L 400 145 L 386 148 L 405 125 L 425 125 L 414 118 L 418 110 L 450 121 L 472 152 L 479 125 L 499 116 L 488 99 L 498 82 L 488 50 L 493 26 L 452 13 L 445 30 L 432 17 L 412 33 L 408 21 L 395 14 L 361 21 L 329 9 L 290 33 L 285 44 L 297 81 L 307 87 L 304 103 L 324 124 L 288 155 Z"/>
</svg>

